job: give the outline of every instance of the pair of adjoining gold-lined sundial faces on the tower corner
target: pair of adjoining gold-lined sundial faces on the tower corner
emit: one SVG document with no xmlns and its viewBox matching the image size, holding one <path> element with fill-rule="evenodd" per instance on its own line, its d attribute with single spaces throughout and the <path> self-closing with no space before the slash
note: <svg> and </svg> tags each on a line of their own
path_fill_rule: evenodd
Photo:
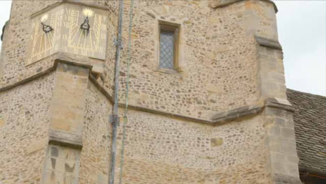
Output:
<svg viewBox="0 0 326 184">
<path fill-rule="evenodd" d="M 105 59 L 107 11 L 65 3 L 33 17 L 27 64 L 55 52 Z"/>
</svg>

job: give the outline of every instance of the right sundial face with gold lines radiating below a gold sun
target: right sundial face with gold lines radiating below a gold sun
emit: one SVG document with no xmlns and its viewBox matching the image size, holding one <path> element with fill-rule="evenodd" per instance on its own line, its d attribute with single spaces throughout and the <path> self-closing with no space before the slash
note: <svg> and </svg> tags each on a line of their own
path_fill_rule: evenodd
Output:
<svg viewBox="0 0 326 184">
<path fill-rule="evenodd" d="M 68 4 L 64 30 L 65 52 L 105 59 L 107 16 L 104 11 Z"/>
</svg>

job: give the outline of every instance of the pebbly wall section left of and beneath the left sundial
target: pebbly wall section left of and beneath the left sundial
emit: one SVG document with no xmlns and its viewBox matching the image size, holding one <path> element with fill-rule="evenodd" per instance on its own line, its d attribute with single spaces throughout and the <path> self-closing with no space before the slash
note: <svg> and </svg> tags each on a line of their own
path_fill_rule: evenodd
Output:
<svg viewBox="0 0 326 184">
<path fill-rule="evenodd" d="M 52 66 L 53 58 L 50 56 L 31 66 L 26 66 L 29 33 L 31 31 L 30 20 L 33 13 L 37 13 L 59 1 L 13 1 L 10 12 L 10 24 L 6 27 L 8 39 L 3 48 L 3 56 L 6 58 L 2 63 L 3 74 L 0 86 L 7 86 L 19 82 L 26 77 L 35 75 Z M 27 8 L 28 7 L 28 8 Z M 52 62 L 51 62 L 52 61 Z"/>
</svg>

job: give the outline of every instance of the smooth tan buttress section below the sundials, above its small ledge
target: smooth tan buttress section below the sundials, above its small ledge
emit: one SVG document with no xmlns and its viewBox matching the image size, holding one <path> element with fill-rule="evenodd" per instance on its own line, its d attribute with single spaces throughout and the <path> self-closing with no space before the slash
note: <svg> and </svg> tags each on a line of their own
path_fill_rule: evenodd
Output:
<svg viewBox="0 0 326 184">
<path fill-rule="evenodd" d="M 80 133 L 89 69 L 67 63 L 58 63 L 57 69 L 50 127 Z"/>
</svg>

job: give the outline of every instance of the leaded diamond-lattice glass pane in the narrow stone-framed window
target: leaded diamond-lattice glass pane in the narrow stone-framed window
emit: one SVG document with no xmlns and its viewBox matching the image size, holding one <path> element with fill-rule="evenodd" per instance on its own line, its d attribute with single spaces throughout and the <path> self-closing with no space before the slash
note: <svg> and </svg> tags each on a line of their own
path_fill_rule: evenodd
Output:
<svg viewBox="0 0 326 184">
<path fill-rule="evenodd" d="M 160 68 L 173 69 L 174 60 L 173 33 L 162 32 L 160 34 Z"/>
</svg>

